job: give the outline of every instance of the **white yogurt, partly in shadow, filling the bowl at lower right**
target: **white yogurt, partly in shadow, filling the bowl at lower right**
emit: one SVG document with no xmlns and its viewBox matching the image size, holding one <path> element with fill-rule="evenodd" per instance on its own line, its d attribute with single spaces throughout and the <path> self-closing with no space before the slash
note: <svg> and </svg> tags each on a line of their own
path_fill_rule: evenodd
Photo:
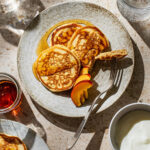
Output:
<svg viewBox="0 0 150 150">
<path fill-rule="evenodd" d="M 135 110 L 123 116 L 115 140 L 120 150 L 150 150 L 150 112 Z"/>
</svg>

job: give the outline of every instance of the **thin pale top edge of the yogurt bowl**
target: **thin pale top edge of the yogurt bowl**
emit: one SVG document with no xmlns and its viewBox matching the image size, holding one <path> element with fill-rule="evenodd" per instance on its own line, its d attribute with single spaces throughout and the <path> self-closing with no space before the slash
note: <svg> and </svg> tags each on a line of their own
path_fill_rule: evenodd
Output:
<svg viewBox="0 0 150 150">
<path fill-rule="evenodd" d="M 110 143 L 111 148 L 112 148 L 113 150 L 117 150 L 117 149 L 115 149 L 114 144 L 113 144 L 113 142 L 112 142 L 112 138 L 111 138 L 111 130 L 112 130 L 113 122 L 115 121 L 115 119 L 117 118 L 117 116 L 118 116 L 123 110 L 125 110 L 125 109 L 127 109 L 127 108 L 129 109 L 129 108 L 132 107 L 132 106 L 140 106 L 140 105 L 150 107 L 150 104 L 149 104 L 149 103 L 145 103 L 145 102 L 135 102 L 135 103 L 127 104 L 127 105 L 125 105 L 124 107 L 120 108 L 120 109 L 115 113 L 115 115 L 112 117 L 111 122 L 110 122 L 110 124 L 109 124 L 108 137 L 109 137 L 109 143 Z M 135 109 L 133 109 L 133 110 L 138 110 L 138 109 L 139 109 L 139 108 L 135 108 Z M 143 108 L 141 108 L 141 110 L 142 110 L 142 109 L 143 109 Z M 143 110 L 144 110 L 144 109 L 143 109 Z M 129 113 L 130 111 L 132 111 L 132 110 L 129 110 L 129 111 L 126 111 L 125 113 L 123 113 L 123 114 L 120 116 L 120 118 L 121 118 L 122 116 L 124 116 L 125 114 Z M 120 118 L 119 118 L 119 119 L 120 119 Z M 118 119 L 118 120 L 119 120 L 119 119 Z"/>
</svg>

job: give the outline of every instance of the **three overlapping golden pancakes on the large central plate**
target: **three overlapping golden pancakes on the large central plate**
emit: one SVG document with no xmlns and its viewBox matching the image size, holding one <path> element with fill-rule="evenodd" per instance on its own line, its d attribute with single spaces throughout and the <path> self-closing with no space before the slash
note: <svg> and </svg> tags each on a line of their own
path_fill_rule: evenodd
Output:
<svg viewBox="0 0 150 150">
<path fill-rule="evenodd" d="M 108 39 L 95 26 L 77 23 L 59 26 L 51 34 L 50 48 L 42 51 L 34 63 L 34 73 L 53 92 L 69 90 L 80 68 L 91 69 L 96 56 L 108 47 Z"/>
</svg>

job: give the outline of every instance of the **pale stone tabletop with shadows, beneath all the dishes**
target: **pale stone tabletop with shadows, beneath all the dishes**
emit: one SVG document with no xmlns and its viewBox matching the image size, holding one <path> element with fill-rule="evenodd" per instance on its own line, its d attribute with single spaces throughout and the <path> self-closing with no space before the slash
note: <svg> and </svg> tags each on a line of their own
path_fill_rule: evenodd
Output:
<svg viewBox="0 0 150 150">
<path fill-rule="evenodd" d="M 42 0 L 45 8 L 68 0 Z M 87 0 L 86 0 L 87 1 Z M 113 115 L 123 106 L 133 102 L 150 103 L 150 19 L 128 22 L 119 12 L 116 0 L 93 0 L 118 17 L 126 27 L 134 45 L 135 68 L 129 86 L 120 99 L 107 110 L 89 118 L 85 129 L 73 150 L 112 150 L 108 139 L 108 127 Z M 19 39 L 0 29 L 0 72 L 17 72 L 17 44 Z M 21 83 L 20 83 L 21 84 Z M 21 85 L 22 86 L 22 85 Z M 24 95 L 18 111 L 0 115 L 21 122 L 40 134 L 51 150 L 65 150 L 82 118 L 67 118 L 50 113 L 35 104 L 22 86 Z M 18 114 L 17 114 L 18 113 Z"/>
</svg>

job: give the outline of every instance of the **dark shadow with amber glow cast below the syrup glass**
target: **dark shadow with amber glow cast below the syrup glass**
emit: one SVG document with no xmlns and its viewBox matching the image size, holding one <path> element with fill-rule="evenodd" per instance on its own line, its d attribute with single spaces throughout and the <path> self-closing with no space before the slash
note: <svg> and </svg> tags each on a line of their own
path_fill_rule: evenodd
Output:
<svg viewBox="0 0 150 150">
<path fill-rule="evenodd" d="M 35 130 L 45 141 L 47 139 L 43 126 L 36 119 L 24 95 L 22 95 L 22 103 L 18 108 L 9 113 L 0 115 L 0 117 L 3 119 L 14 120 L 28 126 L 33 126 L 33 130 Z M 30 143 L 30 145 L 32 145 L 32 143 Z"/>
</svg>

